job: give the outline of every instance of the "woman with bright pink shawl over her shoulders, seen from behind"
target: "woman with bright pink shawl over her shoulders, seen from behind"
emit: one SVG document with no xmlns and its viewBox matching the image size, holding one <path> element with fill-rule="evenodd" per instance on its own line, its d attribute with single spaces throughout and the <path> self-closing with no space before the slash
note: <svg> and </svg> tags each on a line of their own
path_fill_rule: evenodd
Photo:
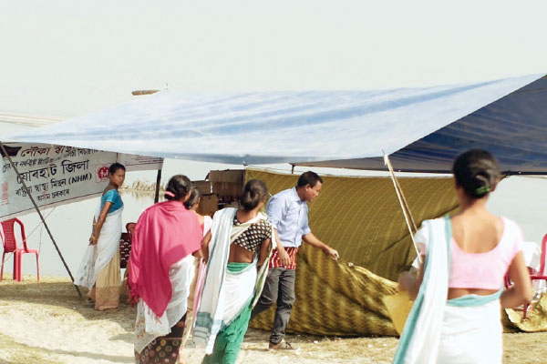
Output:
<svg viewBox="0 0 547 364">
<path fill-rule="evenodd" d="M 194 273 L 192 253 L 201 254 L 200 222 L 183 205 L 190 192 L 188 177 L 171 177 L 168 200 L 146 209 L 135 227 L 129 288 L 137 303 L 137 363 L 176 363 L 179 358 Z"/>
</svg>

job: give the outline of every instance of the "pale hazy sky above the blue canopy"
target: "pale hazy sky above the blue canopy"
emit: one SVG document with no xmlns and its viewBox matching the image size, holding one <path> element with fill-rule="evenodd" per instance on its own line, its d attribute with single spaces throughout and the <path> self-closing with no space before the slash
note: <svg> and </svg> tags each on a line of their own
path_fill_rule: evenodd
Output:
<svg viewBox="0 0 547 364">
<path fill-rule="evenodd" d="M 4 1 L 0 115 L 130 91 L 371 89 L 547 73 L 541 1 Z"/>
</svg>

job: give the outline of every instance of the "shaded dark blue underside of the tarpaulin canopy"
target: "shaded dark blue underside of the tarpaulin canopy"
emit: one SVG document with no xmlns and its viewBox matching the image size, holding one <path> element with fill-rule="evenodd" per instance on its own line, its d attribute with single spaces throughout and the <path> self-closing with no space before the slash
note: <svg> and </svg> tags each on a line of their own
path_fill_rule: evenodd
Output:
<svg viewBox="0 0 547 364">
<path fill-rule="evenodd" d="M 547 174 L 547 77 L 432 131 L 391 154 L 407 172 L 449 173 L 459 153 L 480 147 L 508 174 Z M 303 166 L 385 170 L 381 157 L 303 163 Z"/>
</svg>

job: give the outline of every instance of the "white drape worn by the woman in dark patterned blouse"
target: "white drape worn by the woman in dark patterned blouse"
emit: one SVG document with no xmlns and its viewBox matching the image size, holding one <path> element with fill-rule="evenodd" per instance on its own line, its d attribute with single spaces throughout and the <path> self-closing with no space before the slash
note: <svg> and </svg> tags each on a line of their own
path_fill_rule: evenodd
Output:
<svg viewBox="0 0 547 364">
<path fill-rule="evenodd" d="M 201 306 L 197 312 L 193 340 L 205 343 L 205 352 L 212 353 L 214 341 L 218 332 L 229 325 L 244 308 L 246 303 L 256 304 L 263 289 L 267 274 L 268 261 L 255 273 L 256 258 L 249 268 L 239 274 L 227 272 L 230 245 L 239 238 L 247 228 L 261 219 L 267 219 L 259 213 L 253 219 L 233 226 L 236 208 L 224 208 L 218 211 L 212 219 L 211 242 L 209 244 L 209 261 L 205 283 L 201 292 Z M 274 248 L 274 231 L 270 253 Z M 239 284 L 238 284 L 239 282 Z M 254 296 L 254 297 L 253 297 Z M 251 299 L 253 301 L 251 302 Z"/>
</svg>

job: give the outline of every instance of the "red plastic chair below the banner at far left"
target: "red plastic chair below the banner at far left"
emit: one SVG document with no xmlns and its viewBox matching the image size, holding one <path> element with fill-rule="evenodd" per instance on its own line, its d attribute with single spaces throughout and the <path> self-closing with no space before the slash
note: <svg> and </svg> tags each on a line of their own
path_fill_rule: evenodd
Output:
<svg viewBox="0 0 547 364">
<path fill-rule="evenodd" d="M 17 248 L 17 240 L 15 239 L 15 223 L 21 228 L 21 238 L 23 238 L 23 248 Z M 18 218 L 12 218 L 2 221 L 2 230 L 4 234 L 0 234 L 2 245 L 4 246 L 4 254 L 2 255 L 2 268 L 0 269 L 0 280 L 4 278 L 4 260 L 6 253 L 14 253 L 14 280 L 21 281 L 21 258 L 23 254 L 36 254 L 36 275 L 40 281 L 40 267 L 38 264 L 38 251 L 26 247 L 25 226 Z"/>
</svg>

